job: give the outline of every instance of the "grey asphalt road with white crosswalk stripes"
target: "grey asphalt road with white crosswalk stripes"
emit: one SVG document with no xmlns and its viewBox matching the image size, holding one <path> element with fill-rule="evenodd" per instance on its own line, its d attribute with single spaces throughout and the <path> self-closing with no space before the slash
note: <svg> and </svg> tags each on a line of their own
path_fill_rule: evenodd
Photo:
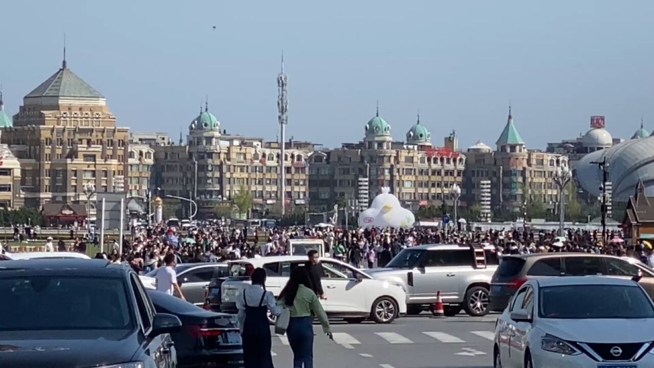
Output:
<svg viewBox="0 0 654 368">
<path fill-rule="evenodd" d="M 428 314 L 400 318 L 389 325 L 332 322 L 334 340 L 314 325 L 314 365 L 356 368 L 490 368 L 496 315 L 460 314 L 442 320 Z M 275 367 L 292 367 L 284 337 L 273 335 Z"/>
</svg>

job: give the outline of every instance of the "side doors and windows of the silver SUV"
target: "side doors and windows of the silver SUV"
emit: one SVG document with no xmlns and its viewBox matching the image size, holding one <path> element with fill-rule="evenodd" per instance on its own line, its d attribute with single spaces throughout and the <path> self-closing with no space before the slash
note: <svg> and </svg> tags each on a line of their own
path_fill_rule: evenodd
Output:
<svg viewBox="0 0 654 368">
<path fill-rule="evenodd" d="M 460 285 L 466 271 L 472 270 L 470 249 L 441 249 L 424 252 L 419 267 L 413 271 L 413 287 L 422 303 L 434 303 L 436 291 L 441 292 L 444 303 L 461 301 Z"/>
</svg>

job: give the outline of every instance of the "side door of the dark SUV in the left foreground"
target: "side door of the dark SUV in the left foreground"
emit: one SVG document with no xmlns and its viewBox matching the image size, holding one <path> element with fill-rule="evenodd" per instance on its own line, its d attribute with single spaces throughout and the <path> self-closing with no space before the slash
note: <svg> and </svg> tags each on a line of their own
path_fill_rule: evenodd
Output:
<svg viewBox="0 0 654 368">
<path fill-rule="evenodd" d="M 162 334 L 155 337 L 150 337 L 150 331 L 152 331 L 152 320 L 154 320 L 154 306 L 148 299 L 145 289 L 141 286 L 137 276 L 131 274 L 129 276 L 131 283 L 131 289 L 134 294 L 135 305 L 136 305 L 136 314 L 137 322 L 139 323 L 139 328 L 143 334 L 144 339 L 141 340 L 141 352 L 146 356 L 149 355 L 154 361 L 154 364 L 158 368 L 170 368 L 174 367 L 175 360 L 171 357 L 174 349 L 173 341 L 169 334 Z"/>
</svg>

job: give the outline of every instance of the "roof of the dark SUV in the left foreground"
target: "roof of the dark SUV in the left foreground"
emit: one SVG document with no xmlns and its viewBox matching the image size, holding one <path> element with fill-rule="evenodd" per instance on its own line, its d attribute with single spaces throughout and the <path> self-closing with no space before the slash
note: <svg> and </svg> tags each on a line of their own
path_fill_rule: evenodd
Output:
<svg viewBox="0 0 654 368">
<path fill-rule="evenodd" d="M 106 259 L 25 259 L 0 263 L 0 278 L 13 276 L 89 276 L 122 278 L 131 268 Z"/>
</svg>

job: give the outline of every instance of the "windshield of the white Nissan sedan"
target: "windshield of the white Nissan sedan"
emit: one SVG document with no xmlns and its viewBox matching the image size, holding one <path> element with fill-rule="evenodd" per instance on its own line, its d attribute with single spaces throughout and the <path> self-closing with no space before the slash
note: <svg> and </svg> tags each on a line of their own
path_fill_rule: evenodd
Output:
<svg viewBox="0 0 654 368">
<path fill-rule="evenodd" d="M 639 286 L 565 285 L 540 289 L 542 318 L 654 318 L 654 307 Z"/>
</svg>

